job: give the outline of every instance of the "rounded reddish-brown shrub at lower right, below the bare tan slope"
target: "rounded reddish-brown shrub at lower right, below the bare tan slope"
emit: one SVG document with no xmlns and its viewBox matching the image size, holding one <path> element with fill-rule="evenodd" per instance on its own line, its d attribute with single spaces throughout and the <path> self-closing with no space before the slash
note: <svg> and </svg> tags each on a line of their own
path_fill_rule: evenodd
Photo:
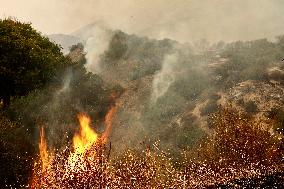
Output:
<svg viewBox="0 0 284 189">
<path fill-rule="evenodd" d="M 201 148 L 200 157 L 218 166 L 270 166 L 281 162 L 281 141 L 234 109 L 221 109 L 213 117 L 215 134 Z M 282 154 L 283 155 L 283 154 Z"/>
</svg>

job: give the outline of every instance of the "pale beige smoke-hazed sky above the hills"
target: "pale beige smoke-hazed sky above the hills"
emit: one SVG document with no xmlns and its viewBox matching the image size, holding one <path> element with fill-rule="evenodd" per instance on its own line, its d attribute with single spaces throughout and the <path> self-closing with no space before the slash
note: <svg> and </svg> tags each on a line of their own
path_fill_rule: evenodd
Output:
<svg viewBox="0 0 284 189">
<path fill-rule="evenodd" d="M 249 40 L 284 34 L 284 0 L 0 0 L 1 18 L 69 34 L 94 21 L 182 42 Z"/>
</svg>

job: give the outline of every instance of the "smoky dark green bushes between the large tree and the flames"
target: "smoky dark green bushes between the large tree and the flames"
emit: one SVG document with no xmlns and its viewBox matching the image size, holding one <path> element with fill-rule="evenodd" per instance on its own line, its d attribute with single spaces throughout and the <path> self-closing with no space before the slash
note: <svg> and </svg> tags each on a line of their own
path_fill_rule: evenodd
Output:
<svg viewBox="0 0 284 189">
<path fill-rule="evenodd" d="M 50 83 L 44 89 L 16 98 L 9 107 L 9 115 L 30 131 L 38 133 L 38 128 L 44 126 L 48 140 L 56 147 L 72 137 L 79 112 L 88 113 L 92 120 L 100 123 L 113 105 L 113 98 L 122 92 L 119 86 L 107 87 L 98 75 L 87 73 L 80 45 L 68 56 L 77 62 L 66 69 L 60 83 Z"/>
</svg>

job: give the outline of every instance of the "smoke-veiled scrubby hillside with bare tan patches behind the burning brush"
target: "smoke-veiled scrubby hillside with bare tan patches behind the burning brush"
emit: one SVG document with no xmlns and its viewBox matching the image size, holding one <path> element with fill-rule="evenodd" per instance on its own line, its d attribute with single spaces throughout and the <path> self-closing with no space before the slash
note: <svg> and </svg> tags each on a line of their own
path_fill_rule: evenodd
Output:
<svg viewBox="0 0 284 189">
<path fill-rule="evenodd" d="M 82 31 L 77 34 L 82 36 Z M 98 29 L 86 31 L 87 36 L 91 31 Z M 260 120 L 276 111 L 276 122 L 283 119 L 282 38 L 274 43 L 263 39 L 181 44 L 121 31 L 107 33 L 108 45 L 94 53 L 97 59 L 88 59 L 87 53 L 86 66 L 109 85 L 124 88 L 114 121 L 114 143 L 135 146 L 146 136 L 161 140 L 166 149 L 194 146 L 211 135 L 214 128 L 208 118 L 220 106 L 233 106 Z M 87 45 L 85 50 L 96 48 Z"/>
</svg>

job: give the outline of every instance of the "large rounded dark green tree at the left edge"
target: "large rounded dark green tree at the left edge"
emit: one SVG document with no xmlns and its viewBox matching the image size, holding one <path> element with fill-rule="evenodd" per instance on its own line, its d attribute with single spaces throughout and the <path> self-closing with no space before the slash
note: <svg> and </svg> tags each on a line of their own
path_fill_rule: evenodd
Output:
<svg viewBox="0 0 284 189">
<path fill-rule="evenodd" d="M 0 102 L 8 106 L 12 96 L 26 95 L 57 80 L 56 73 L 67 60 L 60 47 L 31 24 L 0 20 Z"/>
</svg>

